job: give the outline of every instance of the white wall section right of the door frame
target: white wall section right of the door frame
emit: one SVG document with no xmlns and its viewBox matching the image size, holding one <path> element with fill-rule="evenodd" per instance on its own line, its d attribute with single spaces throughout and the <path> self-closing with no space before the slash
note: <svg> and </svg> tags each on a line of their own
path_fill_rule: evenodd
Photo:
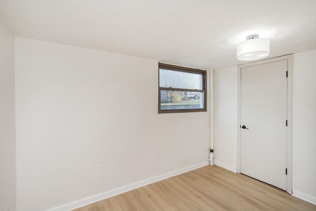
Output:
<svg viewBox="0 0 316 211">
<path fill-rule="evenodd" d="M 293 57 L 293 195 L 316 204 L 316 49 Z"/>
</svg>

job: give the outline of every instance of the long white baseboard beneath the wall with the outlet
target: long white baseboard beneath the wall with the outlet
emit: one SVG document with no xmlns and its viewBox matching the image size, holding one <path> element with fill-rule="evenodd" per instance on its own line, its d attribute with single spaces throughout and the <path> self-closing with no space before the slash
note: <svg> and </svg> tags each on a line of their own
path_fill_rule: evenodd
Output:
<svg viewBox="0 0 316 211">
<path fill-rule="evenodd" d="M 113 196 L 117 196 L 119 194 L 134 190 L 136 188 L 140 188 L 140 187 L 143 187 L 145 185 L 149 185 L 149 184 L 152 184 L 154 182 L 158 182 L 160 180 L 167 179 L 169 177 L 176 176 L 176 175 L 179 175 L 179 174 L 182 174 L 182 173 L 194 170 L 194 169 L 198 169 L 198 168 L 201 168 L 201 167 L 204 167 L 207 165 L 209 165 L 208 161 L 201 162 L 201 163 L 189 166 L 189 167 L 177 169 L 177 170 L 165 173 L 165 174 L 161 174 L 159 176 L 154 176 L 154 177 L 151 177 L 151 178 L 139 181 L 139 182 L 135 182 L 135 183 L 125 185 L 125 186 L 122 186 L 122 187 L 119 187 L 119 188 L 116 188 L 113 190 L 109 190 L 109 191 L 106 191 L 103 193 L 99 193 L 99 194 L 96 194 L 93 196 L 89 196 L 89 197 L 74 201 L 74 202 L 70 202 L 70 203 L 65 204 L 65 205 L 54 207 L 54 208 L 48 209 L 46 211 L 72 211 L 74 209 L 78 209 L 80 207 L 83 207 L 83 206 L 86 206 L 86 205 L 89 205 L 89 204 L 92 204 L 92 203 L 95 203 L 95 202 L 98 202 L 98 201 L 101 201 L 104 199 L 108 199 L 108 198 L 111 198 Z"/>
</svg>

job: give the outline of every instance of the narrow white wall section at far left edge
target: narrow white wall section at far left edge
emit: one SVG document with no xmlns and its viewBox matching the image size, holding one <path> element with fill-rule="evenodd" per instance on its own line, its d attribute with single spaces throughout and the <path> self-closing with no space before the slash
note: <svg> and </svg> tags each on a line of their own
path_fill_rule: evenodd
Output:
<svg viewBox="0 0 316 211">
<path fill-rule="evenodd" d="M 0 20 L 0 210 L 15 210 L 14 37 Z"/>
</svg>

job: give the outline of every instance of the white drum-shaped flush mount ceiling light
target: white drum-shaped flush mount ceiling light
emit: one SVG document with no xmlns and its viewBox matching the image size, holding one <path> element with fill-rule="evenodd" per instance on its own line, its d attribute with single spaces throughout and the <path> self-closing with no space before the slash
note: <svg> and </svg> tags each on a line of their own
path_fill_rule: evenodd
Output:
<svg viewBox="0 0 316 211">
<path fill-rule="evenodd" d="M 237 45 L 237 59 L 251 61 L 262 59 L 270 53 L 270 41 L 259 38 L 259 35 L 249 35 L 246 41 Z"/>
</svg>

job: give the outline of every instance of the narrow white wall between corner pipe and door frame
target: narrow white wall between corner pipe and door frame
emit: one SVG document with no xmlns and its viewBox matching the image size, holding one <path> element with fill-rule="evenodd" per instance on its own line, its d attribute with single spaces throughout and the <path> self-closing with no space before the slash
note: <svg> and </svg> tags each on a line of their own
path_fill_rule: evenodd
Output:
<svg viewBox="0 0 316 211">
<path fill-rule="evenodd" d="M 213 71 L 214 163 L 236 172 L 237 66 Z"/>
</svg>

